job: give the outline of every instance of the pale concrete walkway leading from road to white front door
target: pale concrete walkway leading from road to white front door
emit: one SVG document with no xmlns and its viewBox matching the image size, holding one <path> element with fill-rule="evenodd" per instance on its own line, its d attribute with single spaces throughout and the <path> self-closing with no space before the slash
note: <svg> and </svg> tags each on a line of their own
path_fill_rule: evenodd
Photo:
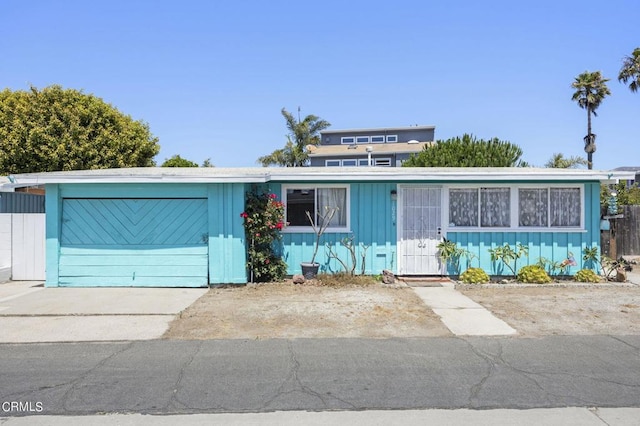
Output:
<svg viewBox="0 0 640 426">
<path fill-rule="evenodd" d="M 508 336 L 514 330 L 482 305 L 457 291 L 452 282 L 442 287 L 413 287 L 413 291 L 456 336 Z"/>
</svg>

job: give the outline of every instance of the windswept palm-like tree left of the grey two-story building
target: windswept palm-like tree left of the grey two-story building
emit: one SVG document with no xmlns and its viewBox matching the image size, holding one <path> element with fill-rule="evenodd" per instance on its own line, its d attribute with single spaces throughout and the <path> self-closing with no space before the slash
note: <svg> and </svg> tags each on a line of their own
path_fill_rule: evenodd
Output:
<svg viewBox="0 0 640 426">
<path fill-rule="evenodd" d="M 287 135 L 287 143 L 284 148 L 276 149 L 269 155 L 258 158 L 258 163 L 263 167 L 270 165 L 278 165 L 284 167 L 302 167 L 307 164 L 309 153 L 308 145 L 318 145 L 320 143 L 320 132 L 331 124 L 322 120 L 320 117 L 310 114 L 304 120 L 300 121 L 286 109 L 282 108 L 282 116 L 284 117 L 289 129 Z M 298 108 L 298 115 L 300 108 Z"/>
</svg>

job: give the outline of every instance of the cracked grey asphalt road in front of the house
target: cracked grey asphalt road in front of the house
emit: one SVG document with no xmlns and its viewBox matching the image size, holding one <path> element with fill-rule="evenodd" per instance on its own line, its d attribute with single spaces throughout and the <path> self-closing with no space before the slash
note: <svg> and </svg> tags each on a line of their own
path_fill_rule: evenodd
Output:
<svg viewBox="0 0 640 426">
<path fill-rule="evenodd" d="M 6 344 L 0 402 L 0 417 L 640 407 L 640 336 Z"/>
</svg>

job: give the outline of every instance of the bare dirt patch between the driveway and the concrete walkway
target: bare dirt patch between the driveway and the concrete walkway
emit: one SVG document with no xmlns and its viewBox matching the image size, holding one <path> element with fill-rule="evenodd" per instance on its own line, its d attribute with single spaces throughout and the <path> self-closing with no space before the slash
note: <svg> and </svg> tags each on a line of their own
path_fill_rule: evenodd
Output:
<svg viewBox="0 0 640 426">
<path fill-rule="evenodd" d="M 426 337 L 451 333 L 408 287 L 291 282 L 211 289 L 165 334 L 176 339 Z"/>
</svg>

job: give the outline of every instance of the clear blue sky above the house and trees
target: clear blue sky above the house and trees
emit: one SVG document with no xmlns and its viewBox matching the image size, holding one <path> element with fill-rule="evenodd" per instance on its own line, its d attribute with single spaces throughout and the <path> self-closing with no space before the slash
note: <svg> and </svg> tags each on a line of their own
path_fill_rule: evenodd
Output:
<svg viewBox="0 0 640 426">
<path fill-rule="evenodd" d="M 573 79 L 600 70 L 594 168 L 640 165 L 640 93 L 618 83 L 640 47 L 637 0 L 24 1 L 0 6 L 0 86 L 82 89 L 217 167 L 284 145 L 280 110 L 331 129 L 434 125 L 582 155 Z"/>
</svg>

